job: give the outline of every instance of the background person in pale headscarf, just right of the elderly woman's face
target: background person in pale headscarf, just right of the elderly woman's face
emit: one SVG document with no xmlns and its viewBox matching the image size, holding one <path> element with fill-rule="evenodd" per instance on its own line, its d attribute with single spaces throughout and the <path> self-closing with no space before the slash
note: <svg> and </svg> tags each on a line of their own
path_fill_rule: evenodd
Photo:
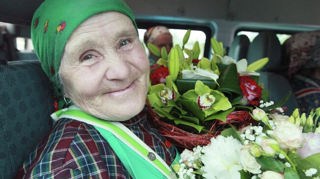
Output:
<svg viewBox="0 0 320 179">
<path fill-rule="evenodd" d="M 172 35 L 170 34 L 169 29 L 165 26 L 153 26 L 148 28 L 147 31 L 144 33 L 143 39 L 146 45 L 148 43 L 152 43 L 155 46 L 157 46 L 159 50 L 161 50 L 162 47 L 165 47 L 168 53 L 173 47 Z M 156 64 L 158 59 L 159 57 L 150 51 L 150 66 Z"/>
</svg>

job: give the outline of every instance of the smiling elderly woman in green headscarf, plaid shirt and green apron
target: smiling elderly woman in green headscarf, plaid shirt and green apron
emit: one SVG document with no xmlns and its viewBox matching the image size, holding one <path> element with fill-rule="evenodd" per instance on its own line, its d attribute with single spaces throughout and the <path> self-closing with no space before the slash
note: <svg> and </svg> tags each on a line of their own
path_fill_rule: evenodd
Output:
<svg viewBox="0 0 320 179">
<path fill-rule="evenodd" d="M 179 160 L 149 121 L 149 63 L 121 0 L 45 0 L 32 19 L 43 70 L 71 106 L 16 178 L 163 179 Z M 152 120 L 152 119 L 151 119 Z"/>
</svg>

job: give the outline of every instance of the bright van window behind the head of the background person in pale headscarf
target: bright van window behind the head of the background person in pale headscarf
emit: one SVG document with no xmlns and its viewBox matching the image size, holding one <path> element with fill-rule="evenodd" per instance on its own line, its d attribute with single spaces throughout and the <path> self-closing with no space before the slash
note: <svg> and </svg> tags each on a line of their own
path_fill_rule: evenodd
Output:
<svg viewBox="0 0 320 179">
<path fill-rule="evenodd" d="M 179 44 L 182 47 L 182 40 L 183 40 L 183 37 L 186 34 L 187 30 L 170 28 L 169 31 L 173 37 L 173 39 L 172 39 L 173 46 L 175 46 L 176 44 Z M 139 39 L 141 42 L 143 42 L 143 35 L 145 32 L 146 32 L 146 29 L 142 29 L 142 28 L 138 29 Z M 188 43 L 185 45 L 185 48 L 192 49 L 193 44 L 196 41 L 199 42 L 199 47 L 200 47 L 199 59 L 200 59 L 201 57 L 203 57 L 204 47 L 205 47 L 205 42 L 206 42 L 206 34 L 203 31 L 191 30 L 190 38 L 189 38 Z M 145 50 L 147 51 L 147 54 L 149 54 L 149 51 L 148 51 L 148 48 L 146 47 L 146 44 L 144 44 L 144 46 L 145 46 Z"/>
</svg>

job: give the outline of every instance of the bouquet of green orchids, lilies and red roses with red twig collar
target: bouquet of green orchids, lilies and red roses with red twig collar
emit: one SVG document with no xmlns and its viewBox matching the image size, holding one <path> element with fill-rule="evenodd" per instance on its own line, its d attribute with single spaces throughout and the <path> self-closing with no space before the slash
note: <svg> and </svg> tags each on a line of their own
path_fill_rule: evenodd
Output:
<svg viewBox="0 0 320 179">
<path fill-rule="evenodd" d="M 288 99 L 273 104 L 268 91 L 259 84 L 259 70 L 268 58 L 248 65 L 246 59 L 236 62 L 225 55 L 222 42 L 211 39 L 211 60 L 199 57 L 199 43 L 192 50 L 176 45 L 169 54 L 153 44 L 149 49 L 160 58 L 151 67 L 148 92 L 155 122 L 160 133 L 176 146 L 192 149 L 207 145 L 229 125 L 242 128 L 253 123 L 250 111 L 260 105 L 263 110 L 276 109 Z M 185 57 L 184 52 L 188 55 Z"/>
</svg>

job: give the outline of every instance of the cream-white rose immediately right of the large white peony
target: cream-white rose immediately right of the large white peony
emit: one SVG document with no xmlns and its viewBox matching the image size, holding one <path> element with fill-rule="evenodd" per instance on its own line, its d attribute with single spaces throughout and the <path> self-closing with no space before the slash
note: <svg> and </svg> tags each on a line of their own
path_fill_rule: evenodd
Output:
<svg viewBox="0 0 320 179">
<path fill-rule="evenodd" d="M 250 148 L 250 146 L 245 146 L 240 151 L 240 163 L 243 167 L 243 170 L 245 172 L 249 171 L 250 173 L 253 173 L 253 174 L 260 174 L 261 165 L 258 164 L 258 162 L 256 162 L 256 158 L 252 156 L 248 148 Z"/>
</svg>

